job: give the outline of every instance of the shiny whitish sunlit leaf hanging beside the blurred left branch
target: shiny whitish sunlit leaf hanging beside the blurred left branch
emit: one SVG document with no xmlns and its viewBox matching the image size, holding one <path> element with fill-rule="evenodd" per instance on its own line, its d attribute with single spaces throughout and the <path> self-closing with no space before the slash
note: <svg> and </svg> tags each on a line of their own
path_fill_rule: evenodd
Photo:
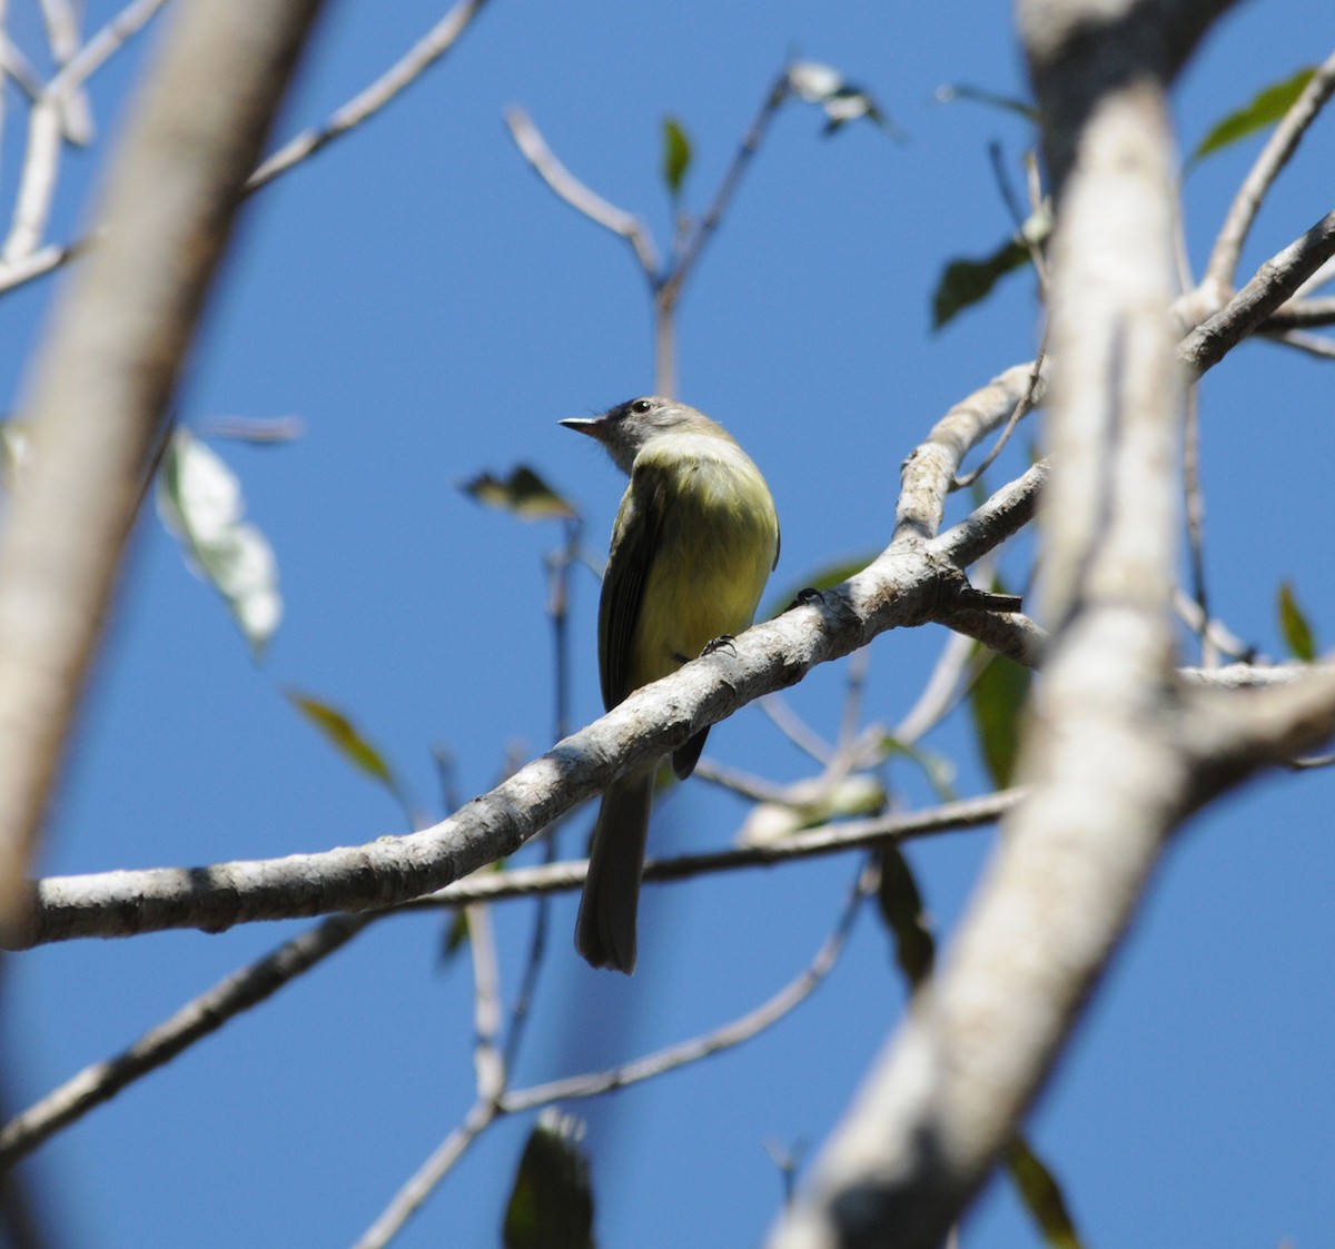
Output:
<svg viewBox="0 0 1335 1249">
<path fill-rule="evenodd" d="M 180 542 L 186 564 L 231 608 L 258 657 L 283 616 L 278 560 L 268 539 L 242 516 L 236 475 L 203 443 L 178 428 L 158 475 L 158 514 Z"/>
</svg>

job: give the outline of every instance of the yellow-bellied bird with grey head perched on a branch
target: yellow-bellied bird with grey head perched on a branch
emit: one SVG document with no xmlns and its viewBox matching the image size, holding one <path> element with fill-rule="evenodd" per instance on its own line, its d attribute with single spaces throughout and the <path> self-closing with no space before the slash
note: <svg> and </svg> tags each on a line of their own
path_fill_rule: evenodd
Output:
<svg viewBox="0 0 1335 1249">
<path fill-rule="evenodd" d="M 685 403 L 649 395 L 561 424 L 597 438 L 630 475 L 598 606 L 598 673 L 611 710 L 752 623 L 778 562 L 778 516 L 746 452 Z M 680 778 L 690 775 L 708 733 L 673 751 Z M 575 923 L 575 949 L 595 967 L 635 969 L 655 770 L 655 762 L 641 765 L 602 798 Z"/>
</svg>

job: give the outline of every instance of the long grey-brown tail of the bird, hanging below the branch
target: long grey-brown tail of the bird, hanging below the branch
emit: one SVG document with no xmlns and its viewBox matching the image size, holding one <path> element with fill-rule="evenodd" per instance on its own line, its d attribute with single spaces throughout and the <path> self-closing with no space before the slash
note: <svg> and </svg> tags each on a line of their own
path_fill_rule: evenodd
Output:
<svg viewBox="0 0 1335 1249">
<path fill-rule="evenodd" d="M 635 970 L 635 914 L 645 863 L 654 770 L 614 781 L 593 830 L 589 875 L 575 921 L 575 949 L 594 967 Z"/>
</svg>

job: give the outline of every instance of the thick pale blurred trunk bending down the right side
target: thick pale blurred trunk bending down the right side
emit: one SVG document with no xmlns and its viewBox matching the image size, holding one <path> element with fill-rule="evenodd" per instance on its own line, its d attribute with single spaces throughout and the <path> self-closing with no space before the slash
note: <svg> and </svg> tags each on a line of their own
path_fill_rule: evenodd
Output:
<svg viewBox="0 0 1335 1249">
<path fill-rule="evenodd" d="M 776 1234 L 784 1249 L 943 1242 L 1197 798 L 1169 666 L 1184 379 L 1164 87 L 1216 11 L 1021 0 L 1059 205 L 1043 530 L 1056 630 L 1021 755 L 1033 790 L 937 979 Z"/>
</svg>

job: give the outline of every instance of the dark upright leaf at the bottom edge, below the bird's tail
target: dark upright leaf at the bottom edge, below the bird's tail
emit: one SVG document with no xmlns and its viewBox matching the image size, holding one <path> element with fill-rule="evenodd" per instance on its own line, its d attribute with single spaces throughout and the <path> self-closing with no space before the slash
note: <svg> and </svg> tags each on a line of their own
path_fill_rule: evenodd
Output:
<svg viewBox="0 0 1335 1249">
<path fill-rule="evenodd" d="M 505 1212 L 505 1249 L 593 1249 L 583 1124 L 549 1106 L 529 1136 Z"/>
</svg>

